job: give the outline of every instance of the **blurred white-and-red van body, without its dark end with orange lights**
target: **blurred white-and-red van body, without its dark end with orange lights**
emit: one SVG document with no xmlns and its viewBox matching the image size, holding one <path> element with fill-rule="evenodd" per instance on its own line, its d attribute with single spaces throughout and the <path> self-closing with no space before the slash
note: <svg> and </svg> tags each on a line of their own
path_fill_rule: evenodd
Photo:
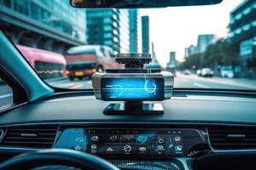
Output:
<svg viewBox="0 0 256 170">
<path fill-rule="evenodd" d="M 94 61 L 96 63 L 96 71 L 120 67 L 114 60 L 113 50 L 107 46 L 83 45 L 69 48 L 65 57 L 67 64 L 76 61 Z"/>
</svg>

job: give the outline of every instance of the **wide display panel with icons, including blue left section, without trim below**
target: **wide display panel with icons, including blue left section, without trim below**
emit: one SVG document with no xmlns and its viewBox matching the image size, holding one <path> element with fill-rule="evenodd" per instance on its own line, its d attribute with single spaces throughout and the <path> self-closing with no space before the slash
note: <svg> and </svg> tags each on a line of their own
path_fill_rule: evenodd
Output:
<svg viewBox="0 0 256 170">
<path fill-rule="evenodd" d="M 205 143 L 199 131 L 182 128 L 67 128 L 55 148 L 82 150 L 104 157 L 182 157 Z"/>
</svg>

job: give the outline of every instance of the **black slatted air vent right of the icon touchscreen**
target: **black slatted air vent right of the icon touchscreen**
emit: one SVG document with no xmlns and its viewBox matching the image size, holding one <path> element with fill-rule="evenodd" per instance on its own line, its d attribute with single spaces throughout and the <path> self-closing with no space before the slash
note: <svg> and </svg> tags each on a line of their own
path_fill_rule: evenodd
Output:
<svg viewBox="0 0 256 170">
<path fill-rule="evenodd" d="M 256 127 L 208 127 L 215 150 L 256 149 Z"/>
</svg>

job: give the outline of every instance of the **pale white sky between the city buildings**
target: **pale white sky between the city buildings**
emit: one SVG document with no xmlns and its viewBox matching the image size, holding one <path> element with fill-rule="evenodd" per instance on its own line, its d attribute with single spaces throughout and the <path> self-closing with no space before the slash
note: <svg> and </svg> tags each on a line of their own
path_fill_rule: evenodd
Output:
<svg viewBox="0 0 256 170">
<path fill-rule="evenodd" d="M 140 16 L 149 16 L 149 41 L 160 65 L 166 66 L 171 51 L 183 61 L 184 48 L 197 43 L 200 34 L 228 36 L 230 11 L 243 0 L 224 0 L 218 5 L 140 9 Z"/>
</svg>

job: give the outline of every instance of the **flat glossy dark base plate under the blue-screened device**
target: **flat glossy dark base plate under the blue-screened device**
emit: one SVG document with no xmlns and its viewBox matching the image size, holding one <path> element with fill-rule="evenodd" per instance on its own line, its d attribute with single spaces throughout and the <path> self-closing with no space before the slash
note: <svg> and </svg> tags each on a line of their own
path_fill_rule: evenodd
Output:
<svg viewBox="0 0 256 170">
<path fill-rule="evenodd" d="M 160 103 L 125 102 L 109 104 L 103 111 L 105 115 L 162 115 Z"/>
</svg>

